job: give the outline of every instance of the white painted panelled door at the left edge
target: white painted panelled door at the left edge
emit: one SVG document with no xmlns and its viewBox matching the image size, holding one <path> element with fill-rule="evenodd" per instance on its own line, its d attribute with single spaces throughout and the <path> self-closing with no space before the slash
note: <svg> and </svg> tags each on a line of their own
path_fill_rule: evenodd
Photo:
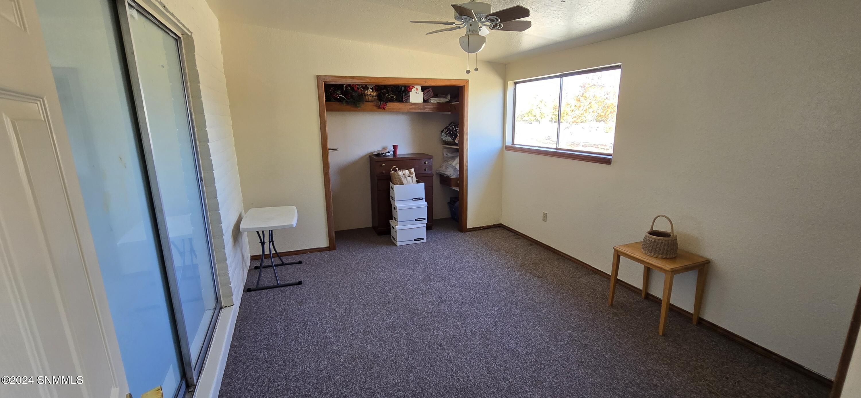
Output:
<svg viewBox="0 0 861 398">
<path fill-rule="evenodd" d="M 0 396 L 125 396 L 33 0 L 0 0 Z"/>
</svg>

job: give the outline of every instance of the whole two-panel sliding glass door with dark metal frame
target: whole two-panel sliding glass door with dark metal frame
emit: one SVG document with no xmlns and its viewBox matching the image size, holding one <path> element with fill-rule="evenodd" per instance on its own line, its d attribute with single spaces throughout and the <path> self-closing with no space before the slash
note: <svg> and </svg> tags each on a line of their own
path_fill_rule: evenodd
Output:
<svg viewBox="0 0 861 398">
<path fill-rule="evenodd" d="M 130 392 L 184 395 L 220 305 L 182 39 L 126 1 L 36 3 Z"/>
</svg>

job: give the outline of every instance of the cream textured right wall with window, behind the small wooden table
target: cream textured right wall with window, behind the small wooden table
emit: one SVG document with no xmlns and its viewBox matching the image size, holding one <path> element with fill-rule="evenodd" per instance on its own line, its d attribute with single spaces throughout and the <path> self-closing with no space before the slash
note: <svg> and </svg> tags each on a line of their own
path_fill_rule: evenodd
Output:
<svg viewBox="0 0 861 398">
<path fill-rule="evenodd" d="M 861 282 L 859 14 L 774 0 L 507 65 L 623 69 L 613 164 L 505 152 L 502 222 L 610 271 L 612 246 L 669 215 L 713 261 L 705 319 L 833 377 Z M 676 277 L 672 302 L 691 310 L 695 283 Z"/>
</svg>

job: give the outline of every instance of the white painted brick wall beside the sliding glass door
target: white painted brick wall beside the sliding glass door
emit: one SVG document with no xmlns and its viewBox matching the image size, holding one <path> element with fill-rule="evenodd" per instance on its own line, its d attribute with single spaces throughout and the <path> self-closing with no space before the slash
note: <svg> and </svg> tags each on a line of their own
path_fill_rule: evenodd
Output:
<svg viewBox="0 0 861 398">
<path fill-rule="evenodd" d="M 164 10 L 174 22 L 191 32 L 194 55 L 187 52 L 185 60 L 221 302 L 224 306 L 238 304 L 248 271 L 249 253 L 245 233 L 239 232 L 244 209 L 219 22 L 205 0 L 145 1 Z M 188 46 L 189 40 L 183 40 Z"/>
</svg>

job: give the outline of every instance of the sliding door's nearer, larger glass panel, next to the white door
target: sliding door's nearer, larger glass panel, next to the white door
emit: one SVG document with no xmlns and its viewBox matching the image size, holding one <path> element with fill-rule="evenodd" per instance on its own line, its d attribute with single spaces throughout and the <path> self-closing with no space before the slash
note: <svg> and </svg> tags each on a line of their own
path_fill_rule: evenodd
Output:
<svg viewBox="0 0 861 398">
<path fill-rule="evenodd" d="M 113 2 L 36 0 L 133 396 L 182 380 Z"/>
</svg>

